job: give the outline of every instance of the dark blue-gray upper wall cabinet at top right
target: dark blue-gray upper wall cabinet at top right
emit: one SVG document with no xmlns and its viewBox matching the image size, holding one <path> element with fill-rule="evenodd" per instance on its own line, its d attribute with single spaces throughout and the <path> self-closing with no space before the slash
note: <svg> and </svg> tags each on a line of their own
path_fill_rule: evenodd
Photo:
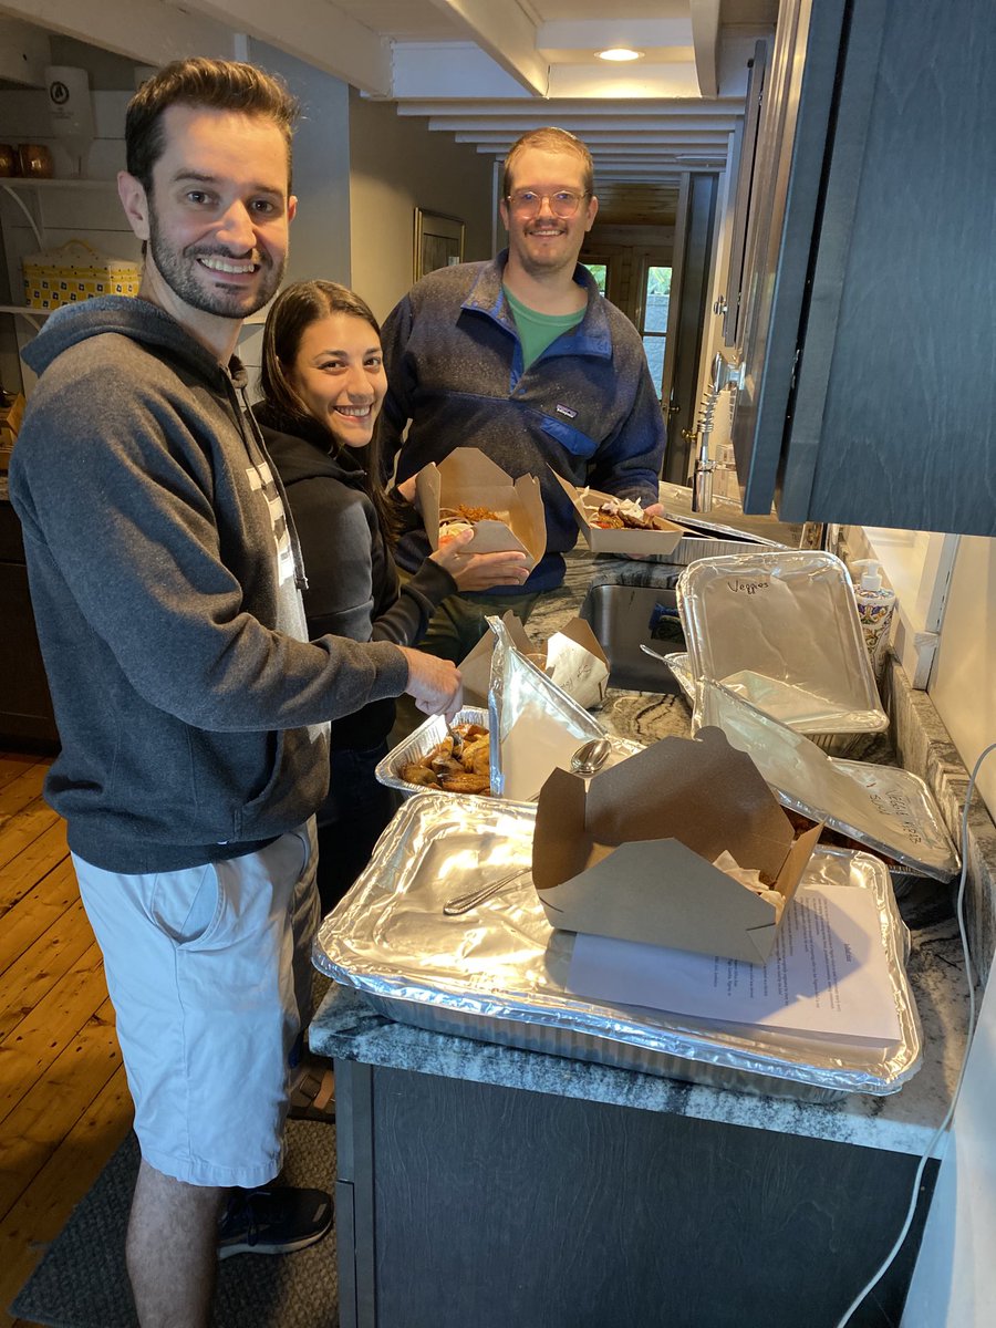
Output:
<svg viewBox="0 0 996 1328">
<path fill-rule="evenodd" d="M 748 223 L 745 510 L 996 535 L 996 9 L 785 0 Z"/>
</svg>

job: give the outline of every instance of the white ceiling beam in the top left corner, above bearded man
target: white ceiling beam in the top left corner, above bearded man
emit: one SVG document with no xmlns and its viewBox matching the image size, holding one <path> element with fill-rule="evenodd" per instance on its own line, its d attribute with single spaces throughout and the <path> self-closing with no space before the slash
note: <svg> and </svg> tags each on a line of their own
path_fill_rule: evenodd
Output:
<svg viewBox="0 0 996 1328">
<path fill-rule="evenodd" d="M 158 0 L 100 0 L 100 4 L 0 0 L 0 13 L 64 37 L 76 37 L 92 46 L 104 46 L 143 65 L 163 65 L 195 54 L 231 60 L 235 53 L 231 25 L 224 27 Z"/>
</svg>

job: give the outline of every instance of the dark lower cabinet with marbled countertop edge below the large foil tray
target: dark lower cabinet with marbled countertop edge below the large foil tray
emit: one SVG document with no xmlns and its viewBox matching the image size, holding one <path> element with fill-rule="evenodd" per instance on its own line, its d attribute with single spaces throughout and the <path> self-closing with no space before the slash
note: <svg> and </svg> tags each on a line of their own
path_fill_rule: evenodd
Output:
<svg viewBox="0 0 996 1328">
<path fill-rule="evenodd" d="M 880 1110 L 858 1143 L 849 1102 L 481 1044 L 336 984 L 308 1037 L 335 1058 L 341 1328 L 835 1328 L 912 1193 Z M 851 1328 L 899 1323 L 936 1171 Z"/>
</svg>

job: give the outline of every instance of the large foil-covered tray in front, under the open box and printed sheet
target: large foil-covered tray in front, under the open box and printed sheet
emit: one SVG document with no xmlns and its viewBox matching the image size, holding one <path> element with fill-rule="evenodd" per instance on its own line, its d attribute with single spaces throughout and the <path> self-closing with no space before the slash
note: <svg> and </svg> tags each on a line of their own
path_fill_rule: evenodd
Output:
<svg viewBox="0 0 996 1328">
<path fill-rule="evenodd" d="M 534 826 L 522 803 L 410 798 L 323 922 L 316 965 L 400 1023 L 717 1088 L 830 1102 L 895 1093 L 919 1069 L 908 932 L 878 859 L 817 850 L 799 887 L 869 890 L 878 908 L 902 1036 L 843 1048 L 568 995 L 575 938 L 550 927 L 529 876 Z M 444 915 L 446 900 L 515 869 L 526 874 L 473 912 Z"/>
</svg>

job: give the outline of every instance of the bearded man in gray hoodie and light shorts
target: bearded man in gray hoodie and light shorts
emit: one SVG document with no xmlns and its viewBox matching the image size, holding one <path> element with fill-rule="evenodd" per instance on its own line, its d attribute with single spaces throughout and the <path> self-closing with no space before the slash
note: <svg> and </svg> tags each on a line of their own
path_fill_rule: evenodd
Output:
<svg viewBox="0 0 996 1328">
<path fill-rule="evenodd" d="M 218 1254 L 328 1230 L 320 1191 L 252 1189 L 280 1169 L 309 992 L 328 721 L 402 692 L 459 705 L 445 661 L 308 643 L 296 537 L 243 410 L 234 351 L 284 271 L 295 113 L 279 82 L 223 61 L 169 65 L 135 94 L 118 185 L 139 296 L 49 320 L 11 466 L 61 738 L 46 797 L 142 1146 L 127 1263 L 143 1328 L 207 1324 Z"/>
</svg>

